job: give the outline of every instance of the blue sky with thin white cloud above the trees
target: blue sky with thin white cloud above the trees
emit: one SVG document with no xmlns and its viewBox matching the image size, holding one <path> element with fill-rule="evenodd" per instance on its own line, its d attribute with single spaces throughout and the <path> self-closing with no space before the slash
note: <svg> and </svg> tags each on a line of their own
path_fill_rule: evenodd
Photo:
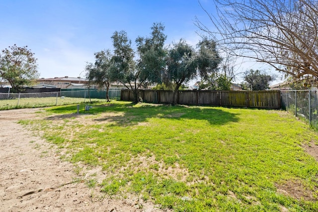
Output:
<svg viewBox="0 0 318 212">
<path fill-rule="evenodd" d="M 200 2 L 213 13 L 209 0 Z M 161 22 L 167 45 L 183 38 L 195 46 L 196 16 L 209 25 L 198 0 L 2 0 L 0 49 L 27 45 L 38 59 L 40 77 L 83 77 L 93 54 L 112 48 L 116 30 L 125 30 L 134 44 Z"/>
</svg>

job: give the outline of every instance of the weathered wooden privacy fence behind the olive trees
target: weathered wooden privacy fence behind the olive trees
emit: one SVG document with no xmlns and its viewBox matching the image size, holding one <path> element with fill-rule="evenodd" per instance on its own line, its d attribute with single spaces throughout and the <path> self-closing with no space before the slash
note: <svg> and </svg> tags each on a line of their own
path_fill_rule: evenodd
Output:
<svg viewBox="0 0 318 212">
<path fill-rule="evenodd" d="M 172 91 L 139 90 L 139 97 L 148 103 L 173 102 Z M 121 90 L 120 99 L 134 101 L 134 95 L 129 90 Z M 280 91 L 179 91 L 178 104 L 278 109 L 281 96 Z"/>
</svg>

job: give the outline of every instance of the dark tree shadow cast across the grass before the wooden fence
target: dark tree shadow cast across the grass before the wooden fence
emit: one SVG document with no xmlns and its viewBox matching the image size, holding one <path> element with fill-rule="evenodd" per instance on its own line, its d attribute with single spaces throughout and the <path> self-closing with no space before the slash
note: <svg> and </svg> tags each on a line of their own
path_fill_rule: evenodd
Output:
<svg viewBox="0 0 318 212">
<path fill-rule="evenodd" d="M 83 107 L 84 105 L 81 105 Z M 153 104 L 131 104 L 131 103 L 115 103 L 104 105 L 93 105 L 89 111 L 80 110 L 80 114 L 76 114 L 77 106 L 62 106 L 49 109 L 54 113 L 63 113 L 53 115 L 47 119 L 64 119 L 76 117 L 81 114 L 100 114 L 98 118 L 93 118 L 95 122 L 111 122 L 113 125 L 129 126 L 137 125 L 141 122 L 147 122 L 149 118 L 165 118 L 176 120 L 206 120 L 211 125 L 223 125 L 228 122 L 237 122 L 239 118 L 236 113 L 225 111 L 221 108 L 200 106 L 169 106 L 169 105 L 153 105 Z M 75 111 L 75 113 L 68 113 Z"/>
</svg>

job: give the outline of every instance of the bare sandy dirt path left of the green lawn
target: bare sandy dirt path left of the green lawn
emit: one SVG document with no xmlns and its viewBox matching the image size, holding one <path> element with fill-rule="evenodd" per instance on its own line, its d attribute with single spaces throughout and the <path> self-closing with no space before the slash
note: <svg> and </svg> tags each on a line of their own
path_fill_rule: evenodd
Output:
<svg viewBox="0 0 318 212">
<path fill-rule="evenodd" d="M 55 147 L 17 123 L 38 118 L 41 108 L 0 111 L 1 212 L 153 212 L 136 197 L 114 200 L 84 183 L 74 165 L 62 161 Z M 85 179 L 85 175 L 81 176 Z M 93 192 L 93 197 L 92 197 Z"/>
</svg>

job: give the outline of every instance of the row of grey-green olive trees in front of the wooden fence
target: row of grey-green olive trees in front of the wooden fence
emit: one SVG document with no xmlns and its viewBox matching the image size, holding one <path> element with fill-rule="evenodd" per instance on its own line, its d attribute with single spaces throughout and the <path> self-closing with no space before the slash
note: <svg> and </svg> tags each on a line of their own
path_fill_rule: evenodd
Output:
<svg viewBox="0 0 318 212">
<path fill-rule="evenodd" d="M 184 83 L 197 77 L 207 81 L 218 72 L 222 58 L 215 41 L 203 38 L 193 47 L 180 39 L 164 46 L 164 26 L 154 23 L 151 30 L 149 37 L 137 37 L 136 50 L 125 31 L 115 31 L 111 36 L 113 51 L 95 53 L 95 63 L 85 67 L 87 79 L 106 90 L 110 83 L 120 82 L 134 94 L 136 103 L 140 101 L 139 89 L 159 85 L 157 88 L 174 91 L 172 104 L 175 104 L 177 91 Z"/>
</svg>

